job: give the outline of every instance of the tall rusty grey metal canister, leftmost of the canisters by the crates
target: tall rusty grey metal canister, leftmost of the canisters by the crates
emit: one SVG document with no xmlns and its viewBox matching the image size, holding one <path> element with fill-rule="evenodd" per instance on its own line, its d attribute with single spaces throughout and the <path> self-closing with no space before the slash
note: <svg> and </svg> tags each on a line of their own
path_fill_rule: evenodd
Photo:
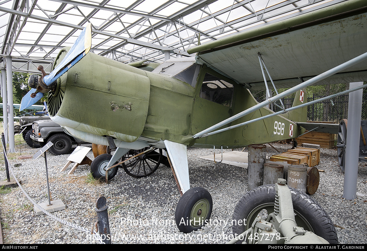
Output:
<svg viewBox="0 0 367 251">
<path fill-rule="evenodd" d="M 262 186 L 265 160 L 265 145 L 254 144 L 248 146 L 248 191 L 255 187 Z"/>
</svg>

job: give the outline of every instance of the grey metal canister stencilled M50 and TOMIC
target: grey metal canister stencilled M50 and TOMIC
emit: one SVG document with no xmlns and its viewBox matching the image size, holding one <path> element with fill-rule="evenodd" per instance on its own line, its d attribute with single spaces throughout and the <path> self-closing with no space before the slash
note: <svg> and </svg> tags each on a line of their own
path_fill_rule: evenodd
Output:
<svg viewBox="0 0 367 251">
<path fill-rule="evenodd" d="M 289 165 L 287 184 L 306 193 L 307 186 L 307 166 Z"/>
</svg>

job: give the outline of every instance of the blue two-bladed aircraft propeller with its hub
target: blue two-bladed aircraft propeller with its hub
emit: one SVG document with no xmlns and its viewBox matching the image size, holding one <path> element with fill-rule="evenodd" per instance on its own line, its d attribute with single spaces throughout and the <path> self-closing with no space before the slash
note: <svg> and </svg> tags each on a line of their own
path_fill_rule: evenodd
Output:
<svg viewBox="0 0 367 251">
<path fill-rule="evenodd" d="M 29 106 L 39 101 L 44 93 L 48 93 L 50 90 L 56 87 L 56 80 L 68 71 L 73 65 L 81 60 L 90 50 L 92 45 L 92 26 L 89 23 L 83 31 L 81 31 L 79 37 L 70 48 L 65 58 L 61 61 L 50 75 L 47 75 L 43 70 L 43 66 L 40 65 L 37 69 L 42 72 L 42 76 L 30 75 L 28 79 L 28 85 L 32 89 L 22 98 L 19 111 L 22 111 Z"/>
</svg>

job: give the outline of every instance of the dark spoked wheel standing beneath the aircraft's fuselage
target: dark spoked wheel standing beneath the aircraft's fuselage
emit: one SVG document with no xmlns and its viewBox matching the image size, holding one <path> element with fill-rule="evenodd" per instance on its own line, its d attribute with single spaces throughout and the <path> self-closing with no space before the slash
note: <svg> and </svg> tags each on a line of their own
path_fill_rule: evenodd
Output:
<svg viewBox="0 0 367 251">
<path fill-rule="evenodd" d="M 140 150 L 130 150 L 123 157 L 124 160 L 134 157 L 135 155 L 148 150 L 149 147 L 145 147 Z M 125 172 L 135 178 L 142 178 L 154 173 L 162 160 L 162 149 L 152 149 L 147 153 L 143 153 L 131 160 L 128 160 L 122 164 Z"/>
</svg>

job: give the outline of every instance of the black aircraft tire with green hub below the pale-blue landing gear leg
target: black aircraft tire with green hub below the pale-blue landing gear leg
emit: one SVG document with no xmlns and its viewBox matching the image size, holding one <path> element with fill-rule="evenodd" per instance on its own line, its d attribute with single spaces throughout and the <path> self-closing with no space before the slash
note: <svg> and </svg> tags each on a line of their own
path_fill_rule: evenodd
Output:
<svg viewBox="0 0 367 251">
<path fill-rule="evenodd" d="M 186 191 L 178 201 L 175 221 L 183 233 L 200 229 L 208 223 L 213 209 L 210 193 L 202 187 L 193 187 Z"/>
</svg>

